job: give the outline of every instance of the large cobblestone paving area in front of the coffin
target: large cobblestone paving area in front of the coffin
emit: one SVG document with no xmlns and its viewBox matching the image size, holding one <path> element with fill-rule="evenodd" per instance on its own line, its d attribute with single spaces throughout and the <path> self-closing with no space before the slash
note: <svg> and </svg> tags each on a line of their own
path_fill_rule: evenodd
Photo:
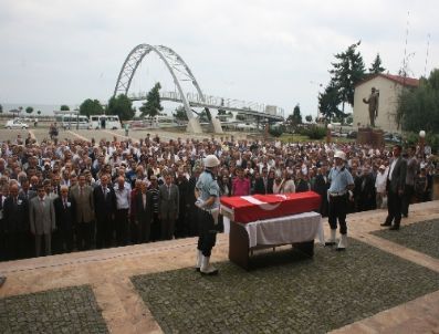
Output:
<svg viewBox="0 0 439 334">
<path fill-rule="evenodd" d="M 134 276 L 165 333 L 326 333 L 439 289 L 439 274 L 349 239 L 346 252 L 317 247 L 313 260 L 268 253 L 282 265 L 245 272 L 218 263 Z M 290 260 L 293 260 L 290 262 Z"/>
</svg>

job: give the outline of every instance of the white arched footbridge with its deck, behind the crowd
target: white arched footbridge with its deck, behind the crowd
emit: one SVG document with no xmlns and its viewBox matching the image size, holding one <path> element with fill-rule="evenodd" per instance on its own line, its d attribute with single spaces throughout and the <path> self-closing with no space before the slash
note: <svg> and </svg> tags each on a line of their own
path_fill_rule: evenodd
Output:
<svg viewBox="0 0 439 334">
<path fill-rule="evenodd" d="M 155 52 L 165 63 L 177 88 L 177 92 L 160 92 L 160 98 L 164 101 L 182 103 L 189 119 L 188 131 L 201 133 L 201 127 L 194 115 L 191 107 L 233 111 L 253 115 L 268 122 L 279 122 L 284 119 L 284 111 L 276 106 L 202 94 L 197 80 L 182 58 L 165 45 L 153 46 L 149 44 L 139 44 L 134 48 L 122 65 L 113 96 L 125 94 L 132 101 L 146 100 L 147 92 L 128 94 L 128 91 L 138 65 L 144 60 L 145 55 L 151 51 Z M 185 93 L 182 90 L 184 82 L 190 82 L 197 93 Z M 221 132 L 221 125 L 218 119 L 212 119 L 212 125 L 216 132 Z"/>
</svg>

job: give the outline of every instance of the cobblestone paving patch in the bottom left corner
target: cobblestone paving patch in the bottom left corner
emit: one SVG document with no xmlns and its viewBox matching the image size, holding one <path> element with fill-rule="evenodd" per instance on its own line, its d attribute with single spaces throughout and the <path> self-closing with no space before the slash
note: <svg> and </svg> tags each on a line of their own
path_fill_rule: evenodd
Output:
<svg viewBox="0 0 439 334">
<path fill-rule="evenodd" d="M 0 332 L 108 333 L 87 285 L 0 299 Z"/>
</svg>

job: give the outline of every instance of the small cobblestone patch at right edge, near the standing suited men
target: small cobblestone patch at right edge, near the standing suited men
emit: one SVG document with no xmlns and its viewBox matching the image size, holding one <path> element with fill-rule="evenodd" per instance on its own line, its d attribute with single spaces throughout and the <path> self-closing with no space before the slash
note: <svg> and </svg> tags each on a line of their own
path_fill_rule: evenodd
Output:
<svg viewBox="0 0 439 334">
<path fill-rule="evenodd" d="M 398 232 L 379 230 L 373 234 L 439 259 L 439 220 L 412 223 Z"/>
</svg>

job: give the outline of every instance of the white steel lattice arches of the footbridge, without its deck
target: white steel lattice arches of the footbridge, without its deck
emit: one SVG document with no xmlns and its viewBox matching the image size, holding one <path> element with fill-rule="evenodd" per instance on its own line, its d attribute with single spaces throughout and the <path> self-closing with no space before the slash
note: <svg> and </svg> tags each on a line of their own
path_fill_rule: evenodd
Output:
<svg viewBox="0 0 439 334">
<path fill-rule="evenodd" d="M 128 95 L 128 90 L 138 65 L 144 60 L 145 55 L 147 55 L 151 51 L 155 52 L 159 56 L 159 59 L 165 63 L 170 75 L 173 76 L 174 83 L 177 86 L 178 92 L 180 93 L 181 101 L 185 106 L 186 115 L 190 121 L 191 118 L 194 118 L 194 114 L 190 108 L 189 102 L 186 98 L 186 94 L 182 91 L 180 81 L 188 81 L 188 80 L 191 81 L 192 85 L 196 87 L 202 101 L 205 100 L 205 95 L 202 94 L 197 80 L 195 79 L 192 72 L 190 71 L 189 66 L 185 63 L 182 58 L 179 56 L 173 49 L 167 48 L 165 45 L 139 44 L 136 48 L 134 48 L 125 59 L 124 64 L 122 65 L 113 96 L 116 96 L 118 94 Z"/>
</svg>

